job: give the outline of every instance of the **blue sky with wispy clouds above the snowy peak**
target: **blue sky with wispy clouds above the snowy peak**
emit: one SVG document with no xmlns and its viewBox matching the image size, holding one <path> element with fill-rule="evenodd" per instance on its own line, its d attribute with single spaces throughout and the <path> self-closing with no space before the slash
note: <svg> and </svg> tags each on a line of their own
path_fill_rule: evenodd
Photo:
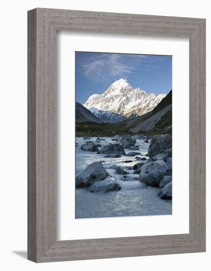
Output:
<svg viewBox="0 0 211 271">
<path fill-rule="evenodd" d="M 172 89 L 172 56 L 75 52 L 77 102 L 102 94 L 120 78 L 133 88 L 167 94 Z"/>
</svg>

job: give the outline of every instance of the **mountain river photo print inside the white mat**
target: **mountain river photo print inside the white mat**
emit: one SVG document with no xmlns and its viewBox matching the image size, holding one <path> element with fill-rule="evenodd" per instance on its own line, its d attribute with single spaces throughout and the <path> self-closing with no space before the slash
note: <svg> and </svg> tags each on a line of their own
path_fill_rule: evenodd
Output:
<svg viewBox="0 0 211 271">
<path fill-rule="evenodd" d="M 172 56 L 75 52 L 75 218 L 172 214 Z"/>
</svg>

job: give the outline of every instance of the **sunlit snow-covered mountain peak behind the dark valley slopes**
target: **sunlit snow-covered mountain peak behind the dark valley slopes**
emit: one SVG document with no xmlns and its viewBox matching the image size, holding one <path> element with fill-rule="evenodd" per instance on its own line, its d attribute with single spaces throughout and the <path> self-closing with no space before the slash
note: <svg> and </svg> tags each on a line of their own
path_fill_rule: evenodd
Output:
<svg viewBox="0 0 211 271">
<path fill-rule="evenodd" d="M 112 83 L 103 94 L 90 96 L 83 105 L 88 109 L 94 107 L 94 109 L 109 111 L 127 118 L 133 114 L 141 116 L 151 111 L 165 96 L 166 94 L 156 96 L 154 93 L 146 93 L 140 88 L 134 89 L 126 79 L 121 78 Z M 99 115 L 99 111 L 93 109 L 92 113 Z M 100 113 L 102 115 L 103 112 Z"/>
</svg>

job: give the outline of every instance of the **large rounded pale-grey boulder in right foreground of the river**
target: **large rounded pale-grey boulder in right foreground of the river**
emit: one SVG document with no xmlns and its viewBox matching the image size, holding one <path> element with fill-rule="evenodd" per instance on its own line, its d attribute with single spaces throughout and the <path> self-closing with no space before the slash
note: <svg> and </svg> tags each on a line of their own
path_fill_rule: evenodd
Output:
<svg viewBox="0 0 211 271">
<path fill-rule="evenodd" d="M 139 180 L 150 186 L 158 186 L 168 167 L 162 160 L 150 162 L 141 168 Z"/>
</svg>

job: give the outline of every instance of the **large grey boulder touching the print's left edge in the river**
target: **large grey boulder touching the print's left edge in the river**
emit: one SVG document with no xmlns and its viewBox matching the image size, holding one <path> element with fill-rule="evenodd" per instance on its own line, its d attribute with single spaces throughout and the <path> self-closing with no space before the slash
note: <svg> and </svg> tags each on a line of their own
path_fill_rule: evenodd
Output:
<svg viewBox="0 0 211 271">
<path fill-rule="evenodd" d="M 107 172 L 102 163 L 94 162 L 76 176 L 76 188 L 87 187 L 107 177 Z"/>
</svg>

